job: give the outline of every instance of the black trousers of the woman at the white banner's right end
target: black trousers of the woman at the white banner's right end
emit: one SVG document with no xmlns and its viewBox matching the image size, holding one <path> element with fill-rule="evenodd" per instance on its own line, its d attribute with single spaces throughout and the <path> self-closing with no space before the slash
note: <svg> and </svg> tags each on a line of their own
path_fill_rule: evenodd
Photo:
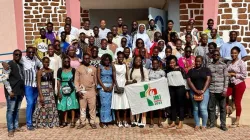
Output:
<svg viewBox="0 0 250 140">
<path fill-rule="evenodd" d="M 176 121 L 177 112 L 179 112 L 179 120 L 183 121 L 185 117 L 185 86 L 169 86 L 171 98 L 171 121 Z"/>
</svg>

